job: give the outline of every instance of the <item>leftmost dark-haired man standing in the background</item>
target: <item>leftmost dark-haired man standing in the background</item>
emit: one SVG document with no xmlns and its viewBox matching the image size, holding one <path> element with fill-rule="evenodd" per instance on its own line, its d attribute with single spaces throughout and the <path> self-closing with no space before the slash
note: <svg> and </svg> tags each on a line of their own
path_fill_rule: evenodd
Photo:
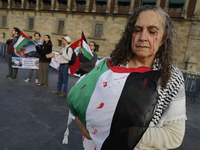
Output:
<svg viewBox="0 0 200 150">
<path fill-rule="evenodd" d="M 12 68 L 12 54 L 14 54 L 14 44 L 17 42 L 18 37 L 20 35 L 20 30 L 14 27 L 11 31 L 12 37 L 10 37 L 6 44 L 8 44 L 7 50 L 7 62 L 8 62 L 8 75 L 4 77 L 4 79 L 9 79 L 14 81 L 17 79 L 18 68 Z"/>
</svg>

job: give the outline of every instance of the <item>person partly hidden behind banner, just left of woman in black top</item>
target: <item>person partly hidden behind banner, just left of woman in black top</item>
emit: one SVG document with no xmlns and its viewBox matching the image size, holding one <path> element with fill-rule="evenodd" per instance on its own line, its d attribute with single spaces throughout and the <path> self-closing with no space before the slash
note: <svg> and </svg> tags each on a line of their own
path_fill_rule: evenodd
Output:
<svg viewBox="0 0 200 150">
<path fill-rule="evenodd" d="M 39 44 L 39 43 L 41 43 L 41 40 L 40 40 L 41 35 L 40 35 L 40 33 L 39 33 L 39 32 L 35 32 L 34 37 L 35 37 L 35 42 L 36 42 L 38 45 L 40 45 L 40 44 Z M 32 76 L 33 76 L 33 71 L 34 71 L 34 70 L 36 71 L 35 83 L 36 83 L 36 84 L 39 83 L 39 81 L 38 81 L 38 69 L 30 69 L 30 71 L 29 71 L 29 77 L 28 77 L 28 79 L 25 80 L 25 82 L 30 82 L 30 81 L 31 81 L 31 78 L 32 78 Z"/>
</svg>

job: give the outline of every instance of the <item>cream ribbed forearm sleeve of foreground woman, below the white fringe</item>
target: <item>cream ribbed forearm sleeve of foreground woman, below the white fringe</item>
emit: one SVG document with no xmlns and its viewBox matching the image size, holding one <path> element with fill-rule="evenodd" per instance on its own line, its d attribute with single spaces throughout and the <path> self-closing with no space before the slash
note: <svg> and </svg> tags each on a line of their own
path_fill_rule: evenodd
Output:
<svg viewBox="0 0 200 150">
<path fill-rule="evenodd" d="M 149 127 L 137 147 L 141 149 L 174 149 L 181 145 L 185 134 L 185 120 L 164 123 L 163 127 Z"/>
</svg>

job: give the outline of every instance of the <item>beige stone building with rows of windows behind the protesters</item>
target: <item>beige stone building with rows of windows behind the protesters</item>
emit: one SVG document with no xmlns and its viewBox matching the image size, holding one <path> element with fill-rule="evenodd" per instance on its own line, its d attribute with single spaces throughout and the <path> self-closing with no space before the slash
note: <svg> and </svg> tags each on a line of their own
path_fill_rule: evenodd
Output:
<svg viewBox="0 0 200 150">
<path fill-rule="evenodd" d="M 0 41 L 5 42 L 11 29 L 18 27 L 30 37 L 36 31 L 42 38 L 49 34 L 53 49 L 60 50 L 62 36 L 75 42 L 84 31 L 88 42 L 98 44 L 98 55 L 106 57 L 130 14 L 145 4 L 158 5 L 171 16 L 177 28 L 176 65 L 187 69 L 193 56 L 195 71 L 200 72 L 200 0 L 0 0 Z"/>
</svg>

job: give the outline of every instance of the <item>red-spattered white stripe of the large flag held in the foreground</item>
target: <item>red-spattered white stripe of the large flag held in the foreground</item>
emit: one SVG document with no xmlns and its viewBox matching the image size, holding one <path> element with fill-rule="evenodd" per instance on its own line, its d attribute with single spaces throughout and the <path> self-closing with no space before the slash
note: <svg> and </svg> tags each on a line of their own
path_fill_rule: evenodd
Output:
<svg viewBox="0 0 200 150">
<path fill-rule="evenodd" d="M 110 118 L 113 118 L 128 75 L 129 73 L 119 74 L 108 70 L 97 81 L 86 111 L 86 126 L 97 150 L 101 149 L 103 142 L 110 134 L 112 123 Z M 113 92 L 110 92 L 111 90 Z M 103 104 L 103 107 L 98 109 L 100 104 Z"/>
</svg>

